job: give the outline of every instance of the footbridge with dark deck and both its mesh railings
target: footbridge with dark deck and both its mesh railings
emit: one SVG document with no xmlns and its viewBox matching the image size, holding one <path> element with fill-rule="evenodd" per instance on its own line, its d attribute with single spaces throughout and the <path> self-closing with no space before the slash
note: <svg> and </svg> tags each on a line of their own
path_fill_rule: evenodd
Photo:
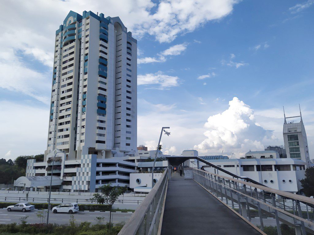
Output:
<svg viewBox="0 0 314 235">
<path fill-rule="evenodd" d="M 193 169 L 165 170 L 119 235 L 310 235 L 314 199 Z"/>
</svg>

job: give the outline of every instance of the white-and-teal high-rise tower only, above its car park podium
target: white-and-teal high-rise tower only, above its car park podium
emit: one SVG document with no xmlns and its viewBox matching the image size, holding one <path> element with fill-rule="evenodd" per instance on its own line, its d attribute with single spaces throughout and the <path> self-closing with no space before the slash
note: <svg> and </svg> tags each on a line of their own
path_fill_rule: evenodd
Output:
<svg viewBox="0 0 314 235">
<path fill-rule="evenodd" d="M 67 159 L 137 150 L 137 41 L 119 17 L 70 11 L 56 31 L 45 155 Z"/>
</svg>

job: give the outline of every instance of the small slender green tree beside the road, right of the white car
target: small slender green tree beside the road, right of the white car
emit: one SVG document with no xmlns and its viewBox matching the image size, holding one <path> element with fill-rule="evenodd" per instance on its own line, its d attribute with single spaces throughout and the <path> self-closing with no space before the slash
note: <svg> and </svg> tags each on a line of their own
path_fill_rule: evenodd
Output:
<svg viewBox="0 0 314 235">
<path fill-rule="evenodd" d="M 111 184 L 103 185 L 99 187 L 98 191 L 101 190 L 101 193 L 94 193 L 93 198 L 90 200 L 92 202 L 97 202 L 97 204 L 108 204 L 110 209 L 110 216 L 109 216 L 109 225 L 111 224 L 111 210 L 113 203 L 118 199 L 118 197 L 127 191 L 127 186 L 125 187 L 117 187 L 111 186 Z"/>
</svg>

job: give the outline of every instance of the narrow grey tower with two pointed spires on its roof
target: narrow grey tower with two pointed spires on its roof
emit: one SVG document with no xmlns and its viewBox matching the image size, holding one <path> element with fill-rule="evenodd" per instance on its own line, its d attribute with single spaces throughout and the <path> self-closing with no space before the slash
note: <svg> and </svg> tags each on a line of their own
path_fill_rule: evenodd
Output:
<svg viewBox="0 0 314 235">
<path fill-rule="evenodd" d="M 300 122 L 292 121 L 291 118 L 300 118 Z M 287 122 L 287 119 L 290 119 L 291 121 Z M 283 134 L 287 158 L 301 159 L 306 162 L 307 166 L 309 166 L 310 154 L 301 109 L 300 116 L 286 117 L 284 113 Z"/>
</svg>

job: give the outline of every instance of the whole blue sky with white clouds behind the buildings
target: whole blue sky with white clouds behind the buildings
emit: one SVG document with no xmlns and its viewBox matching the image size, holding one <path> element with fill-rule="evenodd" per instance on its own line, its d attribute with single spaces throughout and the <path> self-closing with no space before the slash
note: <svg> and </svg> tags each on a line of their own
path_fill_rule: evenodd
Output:
<svg viewBox="0 0 314 235">
<path fill-rule="evenodd" d="M 314 151 L 312 0 L 134 0 L 106 7 L 30 1 L 4 8 L 0 158 L 46 149 L 54 32 L 70 10 L 120 16 L 138 39 L 138 144 L 154 149 L 160 128 L 170 126 L 162 139 L 167 154 L 224 150 L 240 157 L 283 144 L 282 106 L 295 116 L 300 103 L 310 157 Z"/>
</svg>

